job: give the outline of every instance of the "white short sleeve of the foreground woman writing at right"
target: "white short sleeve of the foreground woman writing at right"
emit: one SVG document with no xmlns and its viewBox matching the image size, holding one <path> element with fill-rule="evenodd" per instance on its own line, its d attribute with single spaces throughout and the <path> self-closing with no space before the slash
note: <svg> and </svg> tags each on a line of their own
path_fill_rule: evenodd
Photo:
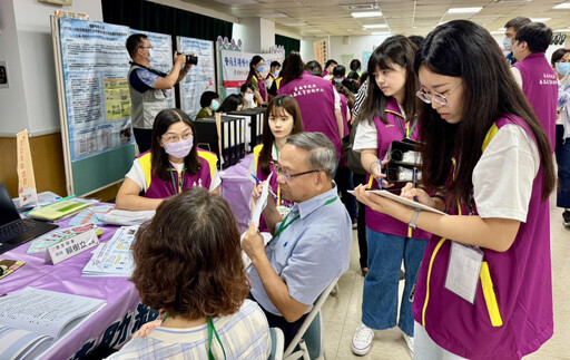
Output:
<svg viewBox="0 0 570 360">
<path fill-rule="evenodd" d="M 479 215 L 527 222 L 539 168 L 539 150 L 527 132 L 514 124 L 501 127 L 473 169 Z"/>
</svg>

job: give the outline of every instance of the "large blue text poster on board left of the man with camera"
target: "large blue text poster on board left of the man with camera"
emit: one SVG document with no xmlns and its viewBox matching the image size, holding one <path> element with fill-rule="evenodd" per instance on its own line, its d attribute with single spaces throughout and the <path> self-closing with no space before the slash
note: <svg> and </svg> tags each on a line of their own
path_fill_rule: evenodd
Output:
<svg viewBox="0 0 570 360">
<path fill-rule="evenodd" d="M 134 144 L 129 28 L 59 19 L 71 162 Z"/>
</svg>

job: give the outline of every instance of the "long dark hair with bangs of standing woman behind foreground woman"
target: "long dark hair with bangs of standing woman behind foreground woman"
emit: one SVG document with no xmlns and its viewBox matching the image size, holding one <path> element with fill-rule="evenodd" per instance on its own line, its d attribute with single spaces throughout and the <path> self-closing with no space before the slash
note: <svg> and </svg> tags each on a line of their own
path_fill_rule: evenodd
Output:
<svg viewBox="0 0 570 360">
<path fill-rule="evenodd" d="M 396 35 L 387 38 L 379 46 L 368 60 L 368 89 L 366 99 L 358 111 L 358 118 L 374 124 L 374 117 L 380 116 L 387 124 L 384 110 L 390 97 L 386 97 L 376 84 L 374 74 L 380 69 L 392 69 L 391 64 L 396 64 L 405 69 L 404 101 L 400 104 L 405 113 L 406 121 L 416 116 L 419 99 L 415 93 L 419 88 L 417 75 L 414 71 L 415 45 L 406 37 Z"/>
</svg>

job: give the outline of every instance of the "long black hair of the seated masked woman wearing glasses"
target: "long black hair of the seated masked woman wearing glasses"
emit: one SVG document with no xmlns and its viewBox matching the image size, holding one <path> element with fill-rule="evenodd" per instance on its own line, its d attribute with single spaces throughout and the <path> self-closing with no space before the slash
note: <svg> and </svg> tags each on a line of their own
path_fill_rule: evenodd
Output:
<svg viewBox="0 0 570 360">
<path fill-rule="evenodd" d="M 186 171 L 190 174 L 197 174 L 202 164 L 198 159 L 198 152 L 196 150 L 197 134 L 196 126 L 190 120 L 188 115 L 180 109 L 164 109 L 155 118 L 155 124 L 153 125 L 153 139 L 150 142 L 150 153 L 153 154 L 153 175 L 159 177 L 163 181 L 170 179 L 170 173 L 168 169 L 170 168 L 170 163 L 168 160 L 168 154 L 166 154 L 165 149 L 160 146 L 160 138 L 168 132 L 170 125 L 184 121 L 191 129 L 191 136 L 194 136 L 194 146 L 190 149 L 190 153 L 184 158 L 184 165 L 186 166 Z"/>
</svg>

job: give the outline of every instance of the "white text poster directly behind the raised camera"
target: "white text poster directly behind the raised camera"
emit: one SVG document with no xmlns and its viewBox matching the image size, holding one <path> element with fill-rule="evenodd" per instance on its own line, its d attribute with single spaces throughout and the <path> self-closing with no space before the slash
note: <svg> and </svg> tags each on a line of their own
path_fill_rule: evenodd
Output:
<svg viewBox="0 0 570 360">
<path fill-rule="evenodd" d="M 198 65 L 193 66 L 180 81 L 181 110 L 196 118 L 200 110 L 200 96 L 204 91 L 216 91 L 216 60 L 214 42 L 207 40 L 177 37 L 178 51 L 198 57 Z"/>
</svg>

